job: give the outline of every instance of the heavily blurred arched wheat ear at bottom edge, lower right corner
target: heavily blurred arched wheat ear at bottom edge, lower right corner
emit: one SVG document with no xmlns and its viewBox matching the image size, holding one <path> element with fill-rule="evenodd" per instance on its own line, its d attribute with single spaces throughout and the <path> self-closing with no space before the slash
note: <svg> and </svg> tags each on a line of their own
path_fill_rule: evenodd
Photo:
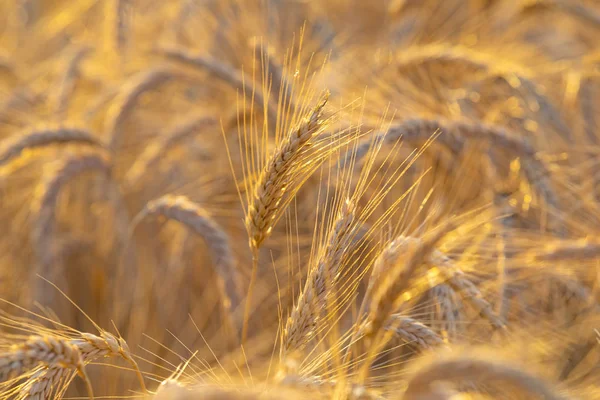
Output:
<svg viewBox="0 0 600 400">
<path fill-rule="evenodd" d="M 403 400 L 437 399 L 432 397 L 437 383 L 473 382 L 502 385 L 503 390 L 518 390 L 521 395 L 546 400 L 565 400 L 548 383 L 498 357 L 477 353 L 453 352 L 430 357 L 409 378 Z M 506 393 L 506 392 L 505 392 Z M 508 393 L 506 393 L 508 395 Z M 509 398 L 510 396 L 507 396 Z"/>
</svg>

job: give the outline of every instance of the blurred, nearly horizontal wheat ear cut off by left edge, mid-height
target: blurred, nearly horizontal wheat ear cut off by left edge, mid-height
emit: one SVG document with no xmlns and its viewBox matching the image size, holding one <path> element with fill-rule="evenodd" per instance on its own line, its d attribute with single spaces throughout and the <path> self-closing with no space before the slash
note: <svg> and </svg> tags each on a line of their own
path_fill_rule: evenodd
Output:
<svg viewBox="0 0 600 400">
<path fill-rule="evenodd" d="M 0 142 L 0 166 L 9 163 L 28 149 L 52 144 L 87 144 L 102 148 L 102 142 L 91 132 L 76 127 L 57 126 L 27 129 Z"/>
</svg>

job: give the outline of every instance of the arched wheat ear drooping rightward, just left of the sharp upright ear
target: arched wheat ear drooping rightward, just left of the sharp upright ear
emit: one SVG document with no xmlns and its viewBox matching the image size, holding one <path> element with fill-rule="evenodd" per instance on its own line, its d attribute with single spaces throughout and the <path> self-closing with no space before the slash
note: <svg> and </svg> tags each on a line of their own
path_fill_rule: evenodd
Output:
<svg viewBox="0 0 600 400">
<path fill-rule="evenodd" d="M 239 305 L 242 294 L 240 274 L 227 233 L 208 211 L 185 196 L 166 195 L 148 202 L 133 225 L 135 227 L 143 219 L 156 216 L 177 221 L 204 239 L 218 276 L 223 308 L 229 315 L 232 305 Z"/>
</svg>

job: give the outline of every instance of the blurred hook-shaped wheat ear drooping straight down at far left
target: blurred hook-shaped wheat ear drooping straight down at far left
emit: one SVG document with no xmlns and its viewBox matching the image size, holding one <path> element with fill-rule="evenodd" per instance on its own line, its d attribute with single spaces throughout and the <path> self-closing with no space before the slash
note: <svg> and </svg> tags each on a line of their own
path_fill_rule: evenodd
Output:
<svg viewBox="0 0 600 400">
<path fill-rule="evenodd" d="M 31 242 L 38 260 L 38 274 L 45 278 L 55 278 L 53 228 L 58 197 L 62 187 L 75 176 L 87 171 L 97 171 L 110 176 L 111 162 L 103 151 L 72 154 L 64 161 L 57 162 L 55 168 L 48 169 L 37 185 L 31 204 L 33 215 Z M 36 279 L 36 293 L 52 298 L 55 291 L 41 279 Z"/>
</svg>

